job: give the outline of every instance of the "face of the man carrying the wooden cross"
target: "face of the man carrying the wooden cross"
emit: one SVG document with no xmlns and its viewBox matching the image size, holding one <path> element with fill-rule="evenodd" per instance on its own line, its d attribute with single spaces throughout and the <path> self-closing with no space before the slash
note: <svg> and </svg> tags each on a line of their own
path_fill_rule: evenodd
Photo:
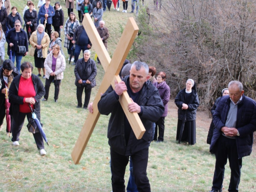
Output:
<svg viewBox="0 0 256 192">
<path fill-rule="evenodd" d="M 149 79 L 150 76 L 146 73 L 145 68 L 141 67 L 139 71 L 136 70 L 136 66 L 133 66 L 130 71 L 130 87 L 134 93 L 140 91 L 144 82 Z"/>
</svg>

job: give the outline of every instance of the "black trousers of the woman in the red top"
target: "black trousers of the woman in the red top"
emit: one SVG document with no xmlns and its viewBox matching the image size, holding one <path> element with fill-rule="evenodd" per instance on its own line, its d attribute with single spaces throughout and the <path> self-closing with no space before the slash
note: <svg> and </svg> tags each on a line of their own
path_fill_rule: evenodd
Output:
<svg viewBox="0 0 256 192">
<path fill-rule="evenodd" d="M 19 134 L 20 131 L 22 131 L 22 126 L 24 124 L 25 117 L 27 116 L 27 119 L 32 117 L 32 113 L 21 113 L 18 114 L 18 122 L 13 123 L 13 130 L 12 130 L 12 141 L 19 141 Z M 40 120 L 40 119 L 39 119 Z M 37 148 L 40 150 L 42 148 L 45 148 L 44 140 L 42 139 L 42 136 L 40 132 L 33 134 L 35 143 Z"/>
</svg>

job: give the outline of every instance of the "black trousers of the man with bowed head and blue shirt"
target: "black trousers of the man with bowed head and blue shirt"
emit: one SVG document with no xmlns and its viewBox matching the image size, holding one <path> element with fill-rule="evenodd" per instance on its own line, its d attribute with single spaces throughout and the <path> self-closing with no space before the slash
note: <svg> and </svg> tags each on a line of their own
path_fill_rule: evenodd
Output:
<svg viewBox="0 0 256 192">
<path fill-rule="evenodd" d="M 225 165 L 227 158 L 229 160 L 229 167 L 231 169 L 231 177 L 228 191 L 238 191 L 240 183 L 242 158 L 238 158 L 236 139 L 229 139 L 223 135 L 220 136 L 216 143 L 216 163 L 214 179 L 212 181 L 212 190 L 222 189 L 224 179 Z"/>
</svg>

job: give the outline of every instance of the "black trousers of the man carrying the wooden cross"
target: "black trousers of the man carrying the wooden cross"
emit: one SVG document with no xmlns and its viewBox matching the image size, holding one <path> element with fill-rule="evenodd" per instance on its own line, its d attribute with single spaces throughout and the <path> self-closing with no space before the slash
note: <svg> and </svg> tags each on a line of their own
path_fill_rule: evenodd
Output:
<svg viewBox="0 0 256 192">
<path fill-rule="evenodd" d="M 129 162 L 129 156 L 120 155 L 111 149 L 110 155 L 113 192 L 124 192 L 124 174 L 125 167 Z M 150 181 L 146 176 L 148 148 L 133 154 L 131 159 L 133 161 L 133 175 L 138 191 L 151 191 Z"/>
</svg>

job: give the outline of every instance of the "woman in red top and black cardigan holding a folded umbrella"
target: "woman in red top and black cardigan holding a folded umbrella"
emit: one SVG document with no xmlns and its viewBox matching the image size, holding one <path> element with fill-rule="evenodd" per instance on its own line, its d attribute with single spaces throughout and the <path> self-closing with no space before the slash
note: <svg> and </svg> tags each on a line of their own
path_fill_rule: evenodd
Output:
<svg viewBox="0 0 256 192">
<path fill-rule="evenodd" d="M 30 62 L 22 63 L 20 66 L 22 74 L 15 77 L 9 89 L 11 101 L 11 114 L 14 119 L 12 130 L 12 145 L 19 145 L 19 134 L 22 131 L 25 117 L 32 118 L 32 109 L 35 109 L 37 119 L 40 121 L 40 99 L 45 94 L 44 84 L 34 74 L 33 66 Z M 44 140 L 40 132 L 33 134 L 36 146 L 40 155 L 46 155 Z"/>
</svg>

